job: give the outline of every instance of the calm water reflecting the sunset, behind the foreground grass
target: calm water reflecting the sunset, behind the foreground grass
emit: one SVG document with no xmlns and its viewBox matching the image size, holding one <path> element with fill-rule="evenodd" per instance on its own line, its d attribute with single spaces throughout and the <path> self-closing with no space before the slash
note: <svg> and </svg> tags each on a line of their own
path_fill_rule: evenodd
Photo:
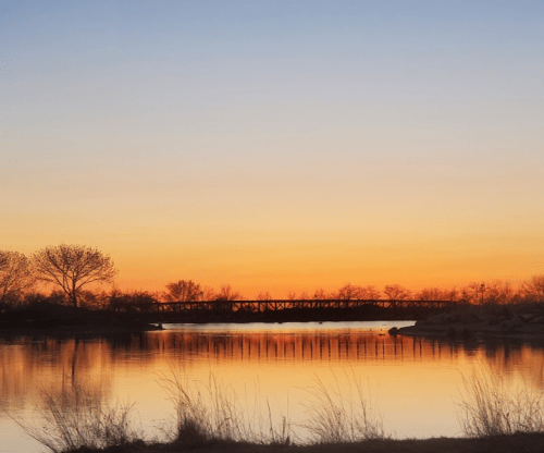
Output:
<svg viewBox="0 0 544 453">
<path fill-rule="evenodd" d="M 484 364 L 517 385 L 544 388 L 544 352 L 521 342 L 469 343 L 390 336 L 411 322 L 168 325 L 166 330 L 109 339 L 0 339 L 0 402 L 26 419 L 44 389 L 84 382 L 110 402 L 135 402 L 148 436 L 173 416 L 161 387 L 172 370 L 188 381 L 210 377 L 248 411 L 270 404 L 272 416 L 305 420 L 317 380 L 349 389 L 360 379 L 386 432 L 398 438 L 460 436 L 456 399 L 462 375 Z M 268 408 L 267 408 L 268 411 Z M 33 415 L 34 414 L 34 415 Z M 140 421 L 139 421 L 140 420 Z M 297 429 L 297 428 L 295 428 Z M 0 452 L 38 452 L 0 412 Z"/>
</svg>

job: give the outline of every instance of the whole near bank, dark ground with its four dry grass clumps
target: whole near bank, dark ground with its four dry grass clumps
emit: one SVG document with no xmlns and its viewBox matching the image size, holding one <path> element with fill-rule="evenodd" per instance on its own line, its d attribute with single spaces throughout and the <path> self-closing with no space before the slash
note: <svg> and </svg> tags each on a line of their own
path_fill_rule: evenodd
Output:
<svg viewBox="0 0 544 453">
<path fill-rule="evenodd" d="M 544 446 L 544 393 L 524 387 L 508 388 L 490 369 L 465 378 L 459 395 L 459 421 L 465 438 L 395 440 L 386 434 L 383 418 L 364 397 L 361 381 L 326 385 L 317 380 L 308 389 L 304 438 L 293 438 L 288 419 L 274 424 L 267 411 L 249 413 L 236 394 L 214 377 L 195 387 L 183 375 L 161 377 L 175 409 L 174 421 L 163 427 L 164 438 L 146 439 L 134 428 L 134 406 L 109 406 L 87 385 L 74 383 L 45 393 L 37 411 L 42 420 L 28 424 L 13 417 L 27 436 L 52 453 L 182 451 L 246 452 L 541 452 Z M 268 406 L 268 403 L 267 403 Z"/>
</svg>

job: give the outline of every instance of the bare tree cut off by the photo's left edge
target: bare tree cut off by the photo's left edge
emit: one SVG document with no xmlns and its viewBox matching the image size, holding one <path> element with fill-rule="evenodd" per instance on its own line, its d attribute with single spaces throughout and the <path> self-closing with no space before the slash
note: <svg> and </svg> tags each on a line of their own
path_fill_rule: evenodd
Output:
<svg viewBox="0 0 544 453">
<path fill-rule="evenodd" d="M 18 252 L 0 250 L 0 303 L 18 297 L 36 282 L 30 260 Z"/>
</svg>

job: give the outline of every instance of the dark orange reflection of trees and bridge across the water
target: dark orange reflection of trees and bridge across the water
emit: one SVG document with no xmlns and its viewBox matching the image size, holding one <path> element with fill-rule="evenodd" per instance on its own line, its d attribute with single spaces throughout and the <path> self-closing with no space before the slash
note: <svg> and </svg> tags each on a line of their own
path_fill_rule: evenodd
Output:
<svg viewBox="0 0 544 453">
<path fill-rule="evenodd" d="M 40 387 L 85 380 L 102 391 L 120 364 L 151 367 L 157 362 L 331 362 L 425 363 L 481 358 L 502 375 L 522 374 L 544 388 L 542 347 L 521 342 L 445 341 L 374 332 L 162 331 L 107 339 L 0 340 L 0 397 L 24 405 Z M 137 363 L 134 364 L 134 359 Z M 240 364 L 240 365 L 242 365 Z"/>
</svg>

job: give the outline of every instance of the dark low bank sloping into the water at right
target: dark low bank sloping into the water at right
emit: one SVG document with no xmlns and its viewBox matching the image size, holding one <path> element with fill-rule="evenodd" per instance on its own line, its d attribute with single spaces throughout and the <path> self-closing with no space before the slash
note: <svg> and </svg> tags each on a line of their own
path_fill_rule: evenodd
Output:
<svg viewBox="0 0 544 453">
<path fill-rule="evenodd" d="M 391 334 L 450 339 L 509 338 L 544 341 L 544 305 L 459 306 Z"/>
</svg>

